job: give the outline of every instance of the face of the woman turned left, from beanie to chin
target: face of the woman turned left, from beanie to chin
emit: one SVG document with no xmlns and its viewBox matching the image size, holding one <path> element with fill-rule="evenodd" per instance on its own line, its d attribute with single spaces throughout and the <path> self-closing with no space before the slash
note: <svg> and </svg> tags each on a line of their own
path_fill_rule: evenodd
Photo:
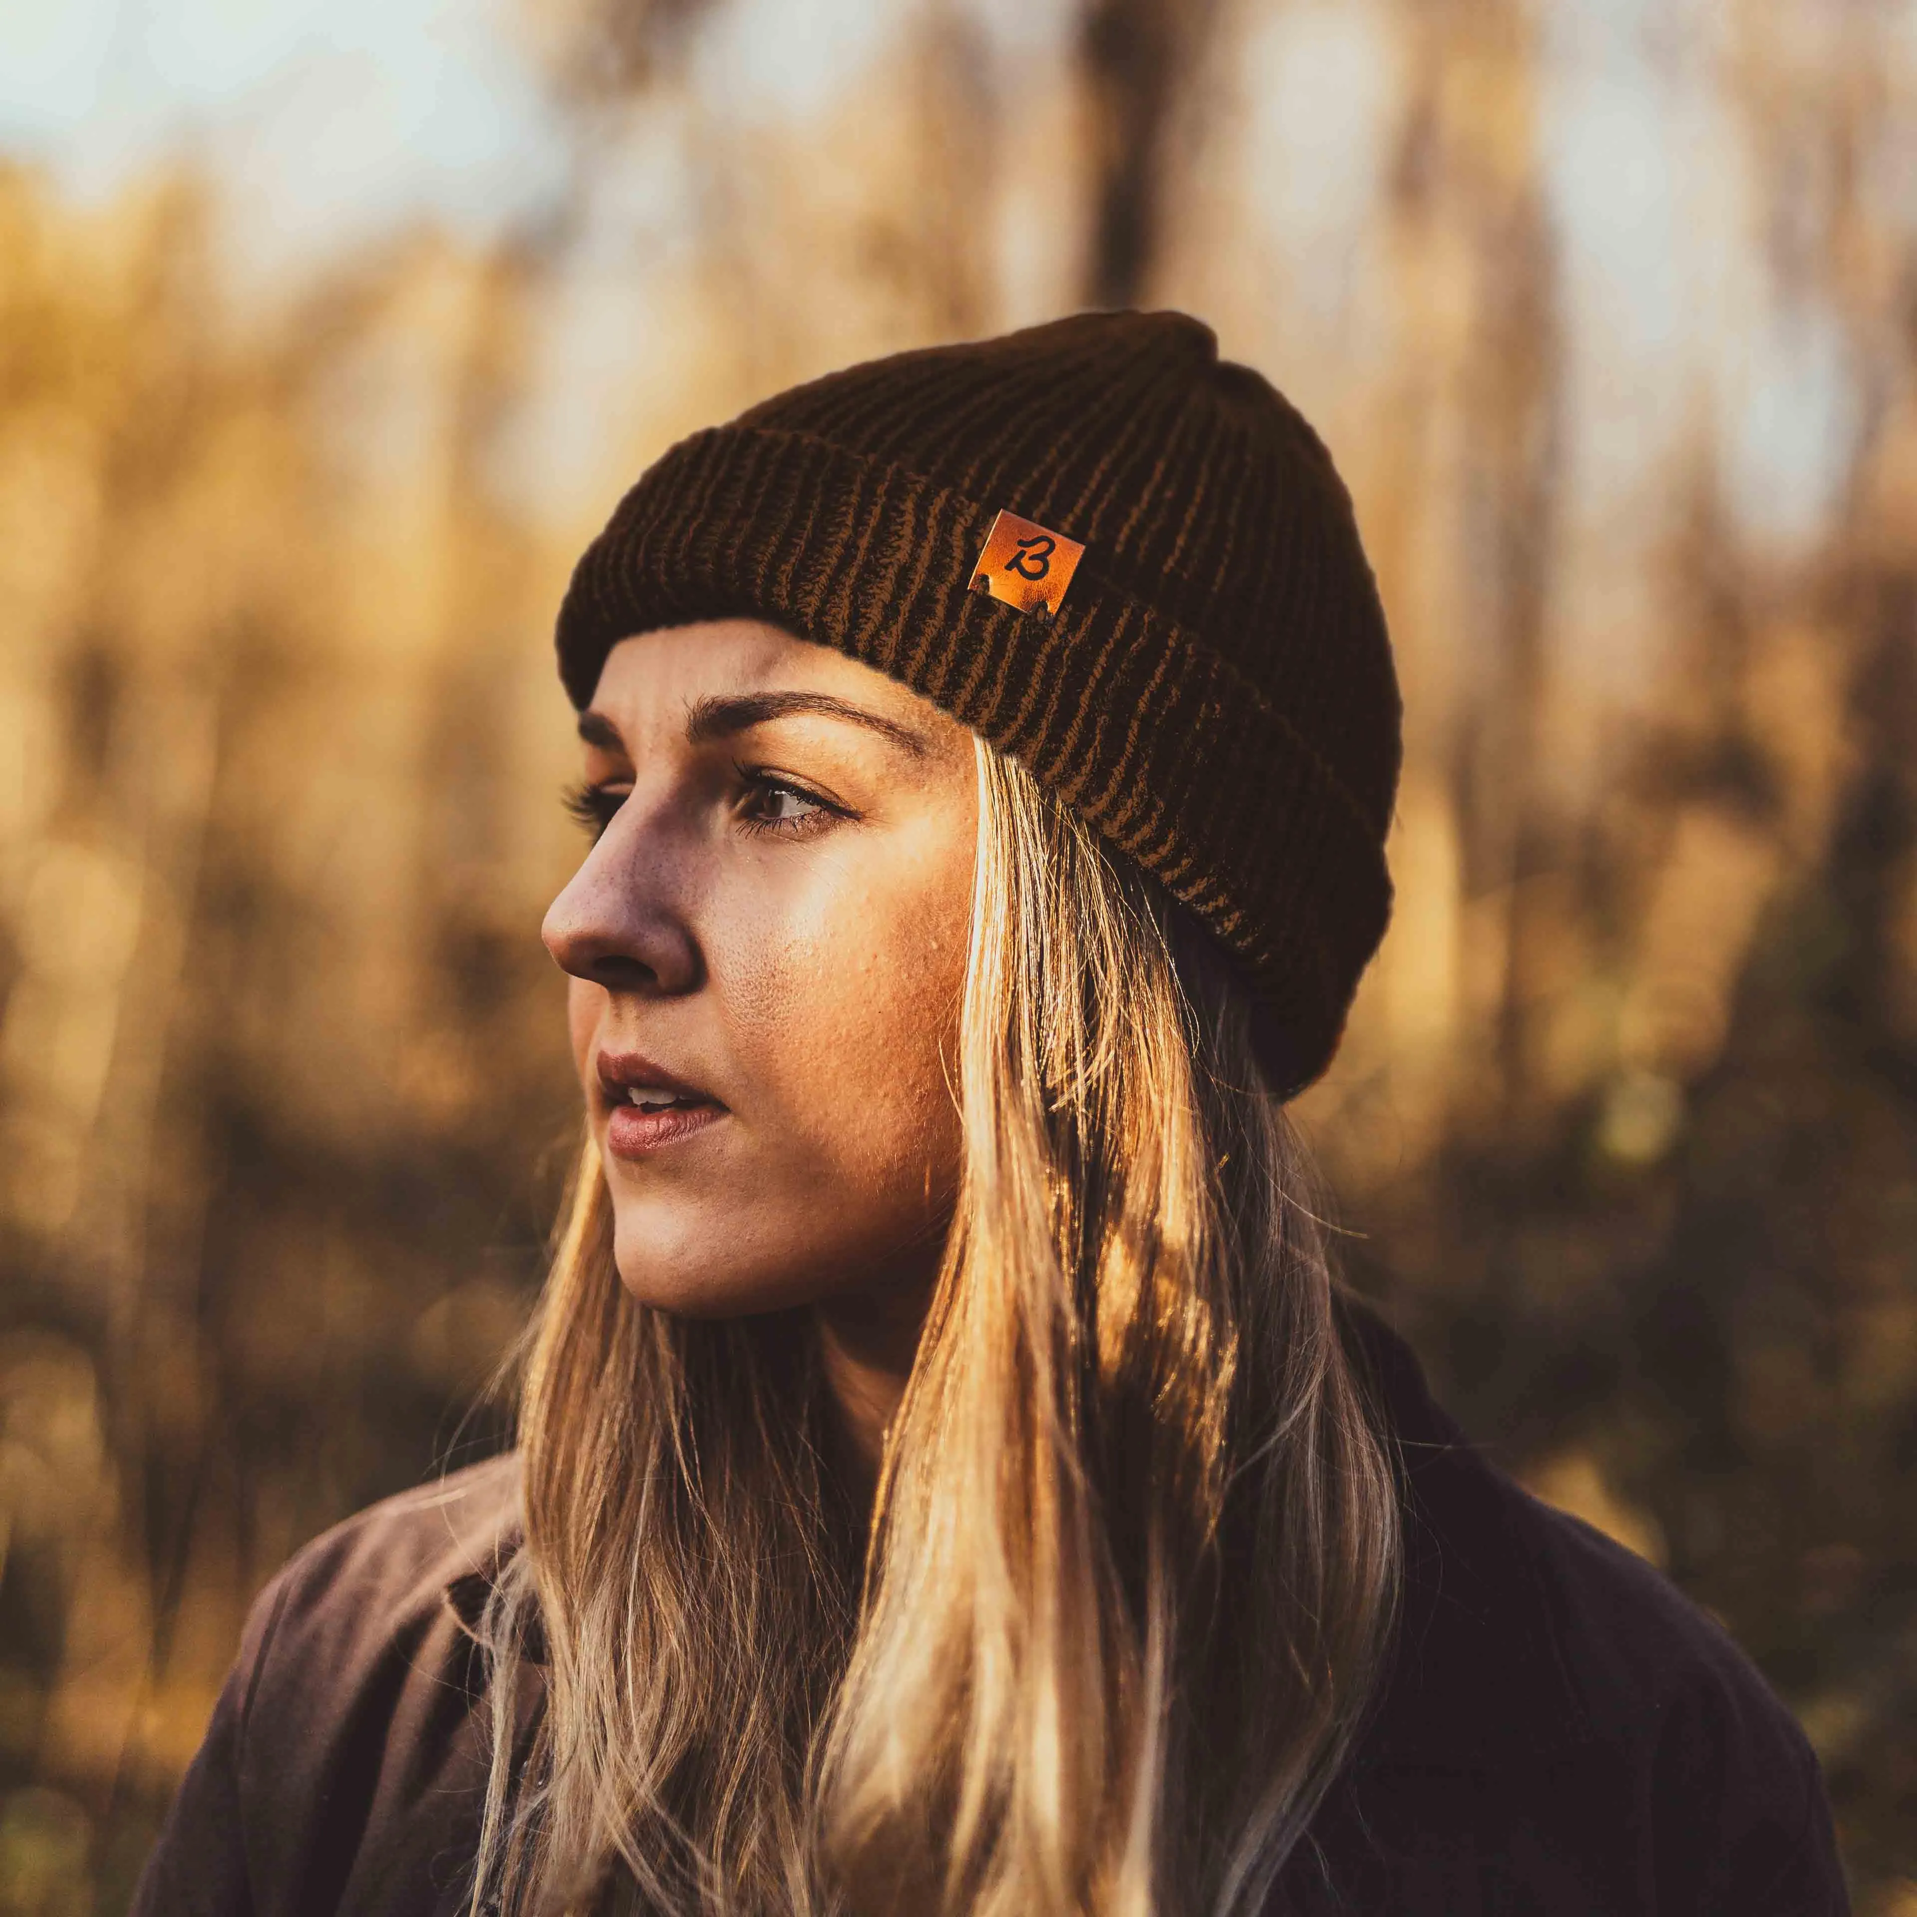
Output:
<svg viewBox="0 0 1917 1917">
<path fill-rule="evenodd" d="M 598 838 L 546 912 L 648 1304 L 924 1281 L 958 1169 L 972 734 L 755 619 L 613 646 L 579 719 Z"/>
</svg>

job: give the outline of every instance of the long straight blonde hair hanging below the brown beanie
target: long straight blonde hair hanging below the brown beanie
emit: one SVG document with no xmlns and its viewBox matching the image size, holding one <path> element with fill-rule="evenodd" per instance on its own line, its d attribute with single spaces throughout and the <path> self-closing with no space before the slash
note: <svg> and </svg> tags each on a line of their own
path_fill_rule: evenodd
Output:
<svg viewBox="0 0 1917 1917">
<path fill-rule="evenodd" d="M 868 1528 L 809 1321 L 633 1300 L 589 1148 L 521 1394 L 475 1909 L 1259 1907 L 1378 1681 L 1394 1476 L 1242 987 L 983 744 L 958 1102 Z"/>
</svg>

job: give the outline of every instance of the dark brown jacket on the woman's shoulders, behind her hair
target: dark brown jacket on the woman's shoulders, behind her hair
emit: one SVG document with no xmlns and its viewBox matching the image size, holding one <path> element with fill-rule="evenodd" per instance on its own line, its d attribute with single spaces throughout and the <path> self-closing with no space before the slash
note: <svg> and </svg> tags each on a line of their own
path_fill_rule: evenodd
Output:
<svg viewBox="0 0 1917 1917">
<path fill-rule="evenodd" d="M 1844 1913 L 1817 1762 L 1743 1652 L 1480 1459 L 1369 1315 L 1363 1336 L 1405 1459 L 1403 1628 L 1273 1909 Z M 498 1459 L 307 1545 L 253 1606 L 136 1913 L 460 1909 L 487 1766 L 470 1626 L 518 1543 Z"/>
</svg>

